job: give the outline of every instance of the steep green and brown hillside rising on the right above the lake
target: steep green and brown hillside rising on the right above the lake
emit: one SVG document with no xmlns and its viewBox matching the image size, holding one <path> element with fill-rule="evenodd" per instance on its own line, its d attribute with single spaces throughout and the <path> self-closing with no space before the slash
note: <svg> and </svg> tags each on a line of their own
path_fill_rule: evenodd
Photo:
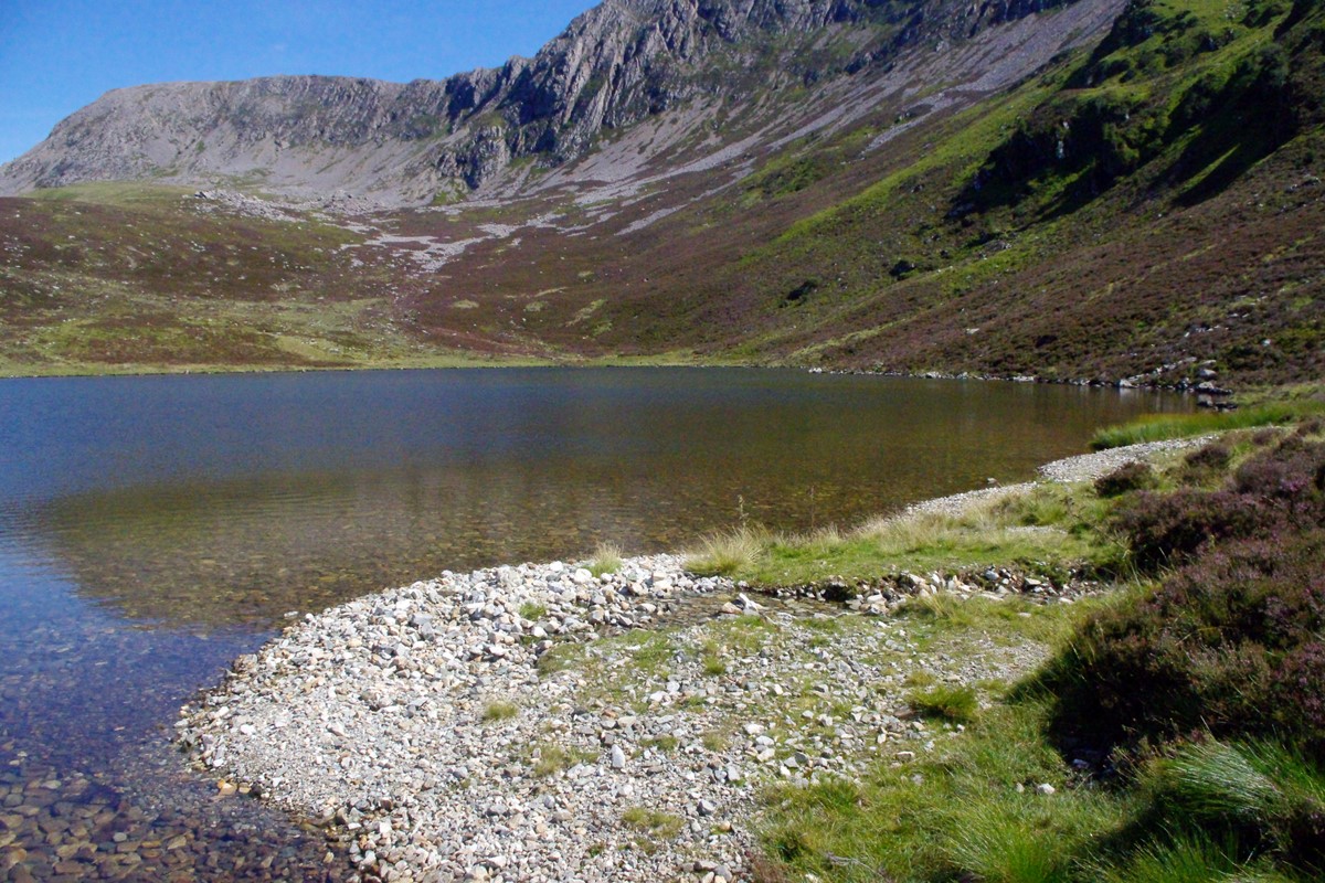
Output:
<svg viewBox="0 0 1325 883">
<path fill-rule="evenodd" d="M 902 371 L 1318 376 L 1321 28 L 1309 3 L 1133 4 L 1094 52 L 924 130 L 859 195 L 696 278 L 721 304 L 698 310 L 706 344 Z M 770 164 L 747 199 L 776 210 L 832 151 L 855 146 Z"/>
</svg>

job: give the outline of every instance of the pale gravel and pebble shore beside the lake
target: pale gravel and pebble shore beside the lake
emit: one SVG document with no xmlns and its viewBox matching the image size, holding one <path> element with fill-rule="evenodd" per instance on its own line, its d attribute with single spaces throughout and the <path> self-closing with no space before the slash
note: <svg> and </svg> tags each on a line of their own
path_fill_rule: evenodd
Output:
<svg viewBox="0 0 1325 883">
<path fill-rule="evenodd" d="M 1203 441 L 1040 474 L 1089 481 Z M 937 592 L 1055 604 L 1092 590 L 929 576 L 843 605 L 751 600 L 674 555 L 600 576 L 560 561 L 444 572 L 305 616 L 237 659 L 176 729 L 221 794 L 314 819 L 364 880 L 734 880 L 761 786 L 904 768 L 955 737 L 908 716 L 908 676 L 1008 678 L 1047 653 L 991 642 L 954 675 L 886 613 Z"/>
</svg>

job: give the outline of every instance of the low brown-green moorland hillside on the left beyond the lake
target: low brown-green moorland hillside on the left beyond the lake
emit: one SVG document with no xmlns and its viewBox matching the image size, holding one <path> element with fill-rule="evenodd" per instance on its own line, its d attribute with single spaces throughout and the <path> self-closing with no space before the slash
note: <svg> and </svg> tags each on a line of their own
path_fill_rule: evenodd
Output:
<svg viewBox="0 0 1325 883">
<path fill-rule="evenodd" d="M 500 347 L 419 334 L 400 274 L 314 216 L 199 210 L 178 188 L 0 199 L 0 372 L 468 364 Z M 517 353 L 518 355 L 518 353 Z"/>
</svg>

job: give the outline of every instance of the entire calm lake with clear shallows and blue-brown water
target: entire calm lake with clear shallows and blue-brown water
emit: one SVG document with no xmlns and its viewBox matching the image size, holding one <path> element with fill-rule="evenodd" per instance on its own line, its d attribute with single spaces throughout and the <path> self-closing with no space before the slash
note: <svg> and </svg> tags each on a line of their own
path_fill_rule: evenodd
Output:
<svg viewBox="0 0 1325 883">
<path fill-rule="evenodd" d="M 168 748 L 286 612 L 741 518 L 851 524 L 1186 406 L 745 369 L 0 381 L 0 876 L 334 879 L 315 834 Z"/>
</svg>

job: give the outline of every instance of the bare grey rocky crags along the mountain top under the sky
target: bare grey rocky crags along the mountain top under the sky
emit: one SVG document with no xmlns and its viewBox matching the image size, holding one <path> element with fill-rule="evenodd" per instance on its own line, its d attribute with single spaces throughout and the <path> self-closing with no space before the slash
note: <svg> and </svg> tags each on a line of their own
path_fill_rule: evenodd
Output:
<svg viewBox="0 0 1325 883">
<path fill-rule="evenodd" d="M 268 77 L 107 93 L 0 167 L 0 193 L 86 180 L 248 181 L 387 203 L 511 184 L 688 103 L 779 113 L 794 87 L 961 42 L 1063 0 L 607 0 L 534 58 L 444 81 Z M 1081 0 L 1086 3 L 1088 0 Z"/>
</svg>

